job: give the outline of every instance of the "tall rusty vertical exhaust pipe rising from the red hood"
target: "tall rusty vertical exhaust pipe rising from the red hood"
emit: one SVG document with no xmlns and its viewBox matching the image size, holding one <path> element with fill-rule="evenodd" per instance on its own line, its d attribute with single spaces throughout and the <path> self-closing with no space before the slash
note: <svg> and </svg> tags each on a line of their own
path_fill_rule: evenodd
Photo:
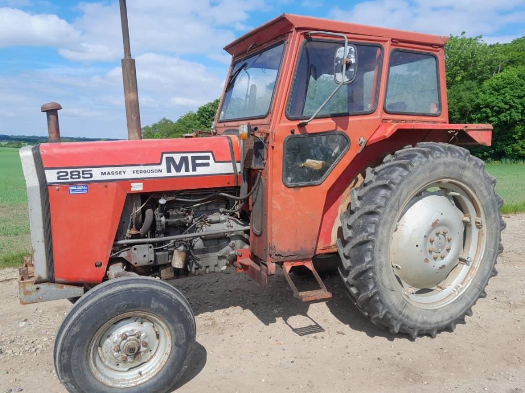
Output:
<svg viewBox="0 0 525 393">
<path fill-rule="evenodd" d="M 120 21 L 122 25 L 122 43 L 124 45 L 124 58 L 121 60 L 121 64 L 128 139 L 142 139 L 137 69 L 135 68 L 135 60 L 131 57 L 128 9 L 125 0 L 120 0 Z"/>
</svg>

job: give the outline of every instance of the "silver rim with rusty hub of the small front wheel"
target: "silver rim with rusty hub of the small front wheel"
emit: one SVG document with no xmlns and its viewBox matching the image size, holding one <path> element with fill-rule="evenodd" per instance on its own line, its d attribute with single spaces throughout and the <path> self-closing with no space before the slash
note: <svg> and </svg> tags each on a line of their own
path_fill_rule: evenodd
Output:
<svg viewBox="0 0 525 393">
<path fill-rule="evenodd" d="M 112 318 L 89 345 L 91 373 L 115 388 L 138 386 L 159 374 L 172 351 L 166 323 L 149 312 L 127 312 Z"/>
</svg>

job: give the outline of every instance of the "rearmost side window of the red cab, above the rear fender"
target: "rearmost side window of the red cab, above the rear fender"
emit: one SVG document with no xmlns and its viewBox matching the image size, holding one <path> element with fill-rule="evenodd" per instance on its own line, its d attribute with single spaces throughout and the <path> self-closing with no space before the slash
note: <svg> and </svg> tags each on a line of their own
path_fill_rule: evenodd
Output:
<svg viewBox="0 0 525 393">
<path fill-rule="evenodd" d="M 437 60 L 432 54 L 394 50 L 390 56 L 385 111 L 439 115 Z"/>
</svg>

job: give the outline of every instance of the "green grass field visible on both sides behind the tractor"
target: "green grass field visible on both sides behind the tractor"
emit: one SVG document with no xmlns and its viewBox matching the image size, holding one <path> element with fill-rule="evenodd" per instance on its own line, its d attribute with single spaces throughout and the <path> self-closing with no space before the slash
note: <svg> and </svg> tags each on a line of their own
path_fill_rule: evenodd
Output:
<svg viewBox="0 0 525 393">
<path fill-rule="evenodd" d="M 487 164 L 505 200 L 503 213 L 525 212 L 525 164 Z M 0 268 L 19 266 L 30 253 L 26 184 L 18 149 L 0 147 Z"/>
</svg>

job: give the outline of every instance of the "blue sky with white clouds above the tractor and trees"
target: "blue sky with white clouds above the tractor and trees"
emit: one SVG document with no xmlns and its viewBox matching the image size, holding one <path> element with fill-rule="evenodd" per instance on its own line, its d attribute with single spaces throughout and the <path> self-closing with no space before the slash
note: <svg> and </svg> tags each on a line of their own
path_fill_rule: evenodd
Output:
<svg viewBox="0 0 525 393">
<path fill-rule="evenodd" d="M 128 0 L 142 125 L 220 96 L 222 49 L 293 13 L 487 43 L 525 35 L 525 0 Z M 118 1 L 0 0 L 0 134 L 46 135 L 59 102 L 64 136 L 126 138 Z"/>
</svg>

